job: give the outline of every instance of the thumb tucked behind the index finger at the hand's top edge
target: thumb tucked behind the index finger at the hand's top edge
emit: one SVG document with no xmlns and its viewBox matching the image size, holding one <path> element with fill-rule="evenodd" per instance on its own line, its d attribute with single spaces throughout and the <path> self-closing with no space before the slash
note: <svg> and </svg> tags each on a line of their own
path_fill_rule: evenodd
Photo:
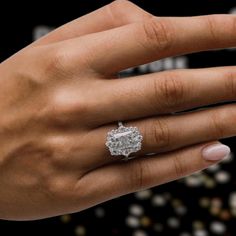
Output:
<svg viewBox="0 0 236 236">
<path fill-rule="evenodd" d="M 49 44 L 90 33 L 109 30 L 138 22 L 150 15 L 151 14 L 130 1 L 116 0 L 57 28 L 45 37 L 37 40 L 33 45 Z"/>
</svg>

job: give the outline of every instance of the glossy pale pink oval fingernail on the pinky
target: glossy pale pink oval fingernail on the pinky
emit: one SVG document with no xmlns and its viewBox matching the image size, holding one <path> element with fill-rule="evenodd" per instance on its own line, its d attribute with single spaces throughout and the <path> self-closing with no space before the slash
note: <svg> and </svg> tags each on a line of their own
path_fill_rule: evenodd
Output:
<svg viewBox="0 0 236 236">
<path fill-rule="evenodd" d="M 213 144 L 202 150 L 202 156 L 207 161 L 220 161 L 230 154 L 230 148 L 224 144 Z"/>
</svg>

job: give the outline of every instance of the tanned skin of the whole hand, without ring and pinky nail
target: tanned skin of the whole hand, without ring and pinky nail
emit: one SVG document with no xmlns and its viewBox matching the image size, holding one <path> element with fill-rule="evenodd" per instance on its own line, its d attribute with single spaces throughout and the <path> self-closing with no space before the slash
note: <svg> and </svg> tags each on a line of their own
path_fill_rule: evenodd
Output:
<svg viewBox="0 0 236 236">
<path fill-rule="evenodd" d="M 117 78 L 164 57 L 236 46 L 235 30 L 233 15 L 159 18 L 118 0 L 1 63 L 0 218 L 78 212 L 215 164 L 202 150 L 235 136 L 235 105 L 175 112 L 235 100 L 235 67 Z M 128 162 L 105 147 L 119 120 L 144 137 Z"/>
</svg>

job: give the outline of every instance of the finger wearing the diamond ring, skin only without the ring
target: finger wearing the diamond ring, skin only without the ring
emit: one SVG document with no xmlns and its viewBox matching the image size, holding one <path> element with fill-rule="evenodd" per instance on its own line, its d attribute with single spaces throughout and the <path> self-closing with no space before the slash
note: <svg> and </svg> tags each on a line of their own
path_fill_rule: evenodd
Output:
<svg viewBox="0 0 236 236">
<path fill-rule="evenodd" d="M 168 152 L 234 136 L 236 133 L 235 117 L 236 106 L 230 104 L 185 114 L 130 121 L 124 125 L 135 126 L 140 130 L 143 135 L 142 150 L 136 154 L 143 156 L 148 153 Z M 121 159 L 121 157 L 112 158 L 105 146 L 107 132 L 114 128 L 114 125 L 109 125 L 100 127 L 94 132 L 94 144 L 91 146 L 91 150 L 96 146 L 97 155 L 93 160 L 95 165 L 99 166 Z"/>
</svg>

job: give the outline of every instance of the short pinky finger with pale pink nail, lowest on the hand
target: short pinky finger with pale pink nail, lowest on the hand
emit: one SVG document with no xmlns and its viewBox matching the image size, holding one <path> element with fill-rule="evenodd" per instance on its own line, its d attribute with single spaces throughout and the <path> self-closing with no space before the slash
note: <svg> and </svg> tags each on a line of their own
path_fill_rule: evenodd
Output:
<svg viewBox="0 0 236 236">
<path fill-rule="evenodd" d="M 206 169 L 229 154 L 230 148 L 217 141 L 198 144 L 153 157 L 105 166 L 88 173 L 81 181 L 90 185 L 89 192 L 94 196 L 91 204 L 94 205 L 98 201 L 104 202 Z"/>
</svg>

